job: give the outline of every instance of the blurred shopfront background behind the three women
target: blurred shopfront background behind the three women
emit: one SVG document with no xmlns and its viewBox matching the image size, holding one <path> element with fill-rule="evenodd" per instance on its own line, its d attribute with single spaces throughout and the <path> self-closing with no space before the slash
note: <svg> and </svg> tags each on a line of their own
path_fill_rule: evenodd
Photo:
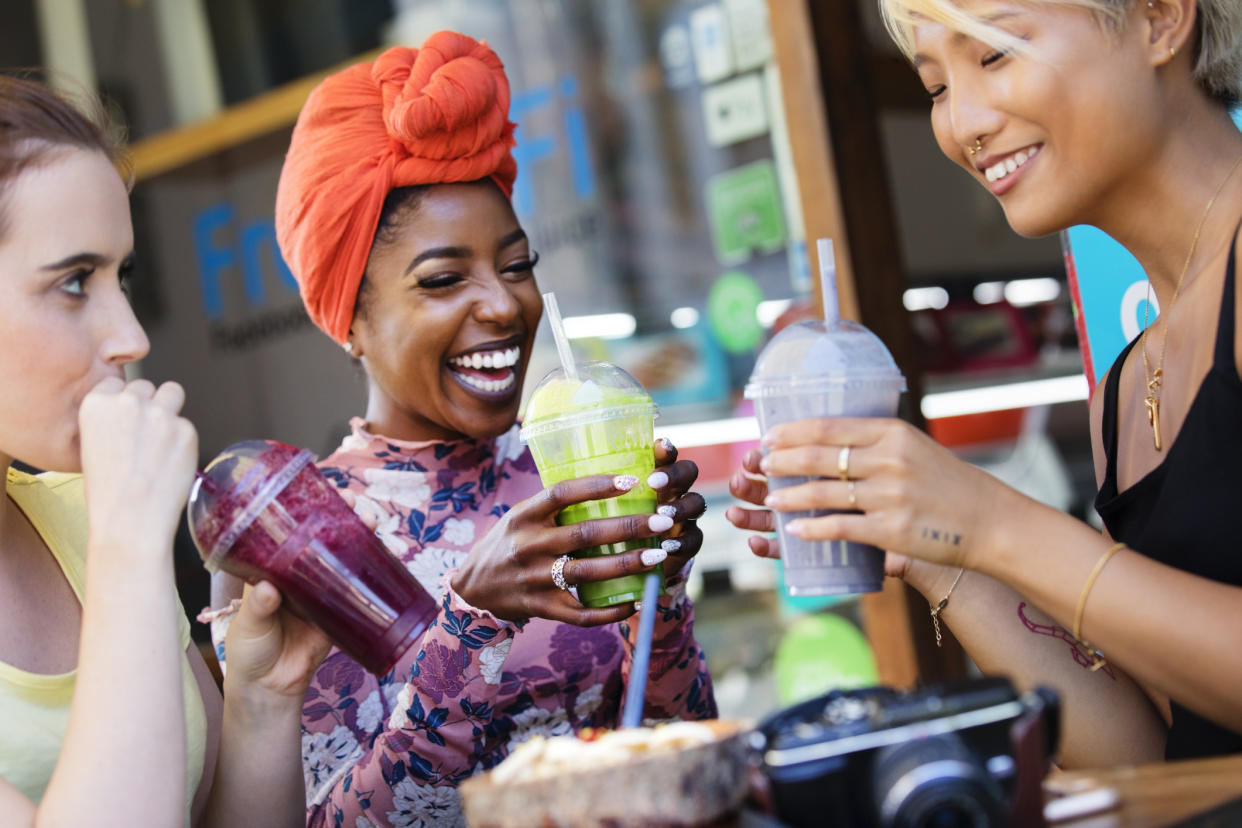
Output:
<svg viewBox="0 0 1242 828">
<path fill-rule="evenodd" d="M 1017 237 L 941 156 L 874 0 L 5 0 L 0 63 L 52 67 L 128 127 L 134 304 L 152 339 L 139 370 L 186 386 L 201 459 L 253 437 L 327 454 L 361 413 L 360 376 L 277 252 L 276 181 L 324 72 L 440 29 L 505 63 L 514 205 L 576 351 L 638 377 L 657 433 L 702 468 L 692 588 L 722 713 L 969 672 L 951 642 L 930 646 L 925 603 L 902 585 L 791 600 L 724 520 L 756 434 L 743 385 L 775 330 L 818 313 L 820 236 L 837 243 L 846 315 L 910 381 L 903 416 L 1090 511 L 1061 242 Z M 555 362 L 542 335 L 528 389 Z M 188 538 L 178 556 L 193 616 L 207 576 Z"/>
</svg>

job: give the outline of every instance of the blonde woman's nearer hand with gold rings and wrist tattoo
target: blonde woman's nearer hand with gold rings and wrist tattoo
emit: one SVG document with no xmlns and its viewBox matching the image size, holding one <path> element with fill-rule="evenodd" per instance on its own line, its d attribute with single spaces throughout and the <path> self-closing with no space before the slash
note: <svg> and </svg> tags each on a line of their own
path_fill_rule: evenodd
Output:
<svg viewBox="0 0 1242 828">
<path fill-rule="evenodd" d="M 848 539 L 974 569 L 974 557 L 989 547 L 984 533 L 1017 505 L 1002 503 L 1012 490 L 996 478 L 900 420 L 804 420 L 770 428 L 763 442 L 769 453 L 760 468 L 769 482 L 822 478 L 770 492 L 769 508 L 842 513 L 786 528 L 805 539 Z M 904 561 L 893 564 L 891 570 L 904 569 Z"/>
</svg>

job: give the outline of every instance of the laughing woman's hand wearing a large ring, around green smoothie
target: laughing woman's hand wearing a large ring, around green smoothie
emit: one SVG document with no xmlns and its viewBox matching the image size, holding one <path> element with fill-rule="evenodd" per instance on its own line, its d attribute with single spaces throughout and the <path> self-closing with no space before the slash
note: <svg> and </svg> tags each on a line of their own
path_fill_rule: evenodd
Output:
<svg viewBox="0 0 1242 828">
<path fill-rule="evenodd" d="M 584 607 L 554 583 L 553 564 L 581 549 L 637 539 L 653 539 L 651 549 L 570 559 L 563 571 L 565 581 L 578 585 L 638 575 L 663 561 L 666 552 L 655 539 L 672 528 L 672 518 L 638 514 L 556 525 L 556 514 L 565 506 L 615 498 L 635 485 L 635 478 L 596 474 L 563 480 L 514 505 L 471 550 L 453 578 L 453 590 L 471 606 L 505 621 L 549 618 L 595 627 L 627 618 L 635 611 L 632 602 Z"/>
</svg>

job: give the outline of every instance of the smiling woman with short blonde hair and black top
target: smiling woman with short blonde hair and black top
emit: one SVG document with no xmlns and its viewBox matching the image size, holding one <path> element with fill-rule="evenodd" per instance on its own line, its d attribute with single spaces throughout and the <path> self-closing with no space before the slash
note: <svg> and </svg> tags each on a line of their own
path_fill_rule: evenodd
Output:
<svg viewBox="0 0 1242 828">
<path fill-rule="evenodd" d="M 984 672 L 1061 691 L 1066 765 L 1242 751 L 1242 134 L 1230 117 L 1242 4 L 881 7 L 927 88 L 941 151 L 1013 230 L 1099 227 L 1159 299 L 1090 403 L 1104 533 L 892 420 L 776 428 L 733 490 L 780 511 L 841 510 L 796 521 L 800 536 L 892 550 L 888 572 Z M 825 479 L 769 493 L 760 474 Z M 771 526 L 764 510 L 729 516 Z"/>
</svg>

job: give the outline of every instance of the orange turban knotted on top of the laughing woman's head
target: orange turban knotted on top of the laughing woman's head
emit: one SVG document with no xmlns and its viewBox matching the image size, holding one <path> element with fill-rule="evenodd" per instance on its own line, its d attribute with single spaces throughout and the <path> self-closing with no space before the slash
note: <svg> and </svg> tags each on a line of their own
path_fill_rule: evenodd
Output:
<svg viewBox="0 0 1242 828">
<path fill-rule="evenodd" d="M 388 194 L 491 178 L 507 196 L 509 82 L 492 48 L 442 31 L 323 81 L 293 128 L 276 238 L 310 320 L 344 344 Z"/>
</svg>

